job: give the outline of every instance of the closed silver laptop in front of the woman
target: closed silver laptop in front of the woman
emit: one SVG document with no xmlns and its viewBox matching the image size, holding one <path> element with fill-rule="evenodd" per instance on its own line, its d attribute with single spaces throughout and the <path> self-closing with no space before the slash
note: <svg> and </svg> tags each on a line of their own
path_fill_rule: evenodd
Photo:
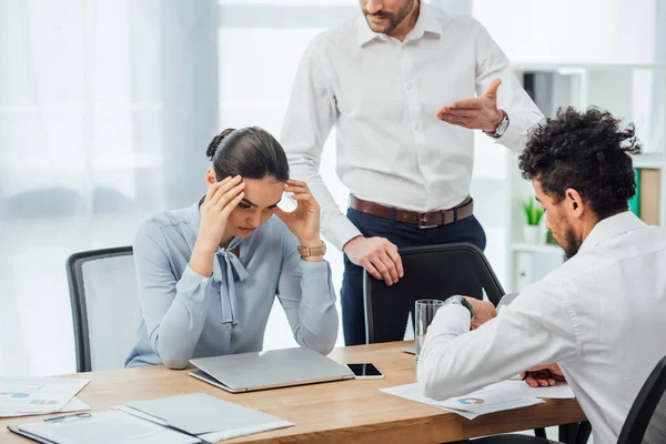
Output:
<svg viewBox="0 0 666 444">
<path fill-rule="evenodd" d="M 190 374 L 228 392 L 351 380 L 346 365 L 306 347 L 271 350 L 190 360 L 199 367 Z"/>
</svg>

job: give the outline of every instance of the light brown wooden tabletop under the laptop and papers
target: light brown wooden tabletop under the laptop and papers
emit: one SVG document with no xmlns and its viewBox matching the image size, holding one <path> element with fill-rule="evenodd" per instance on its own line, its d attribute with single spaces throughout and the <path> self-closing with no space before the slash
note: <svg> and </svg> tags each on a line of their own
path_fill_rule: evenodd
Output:
<svg viewBox="0 0 666 444">
<path fill-rule="evenodd" d="M 336 349 L 341 363 L 372 362 L 384 380 L 341 381 L 253 393 L 231 394 L 163 366 L 80 373 L 90 384 L 78 397 L 93 412 L 129 401 L 186 393 L 208 393 L 291 421 L 294 427 L 225 441 L 225 443 L 354 442 L 435 443 L 585 421 L 575 400 L 551 400 L 519 410 L 467 421 L 443 410 L 380 392 L 416 381 L 414 356 L 403 342 Z M 1 443 L 31 441 L 10 433 L 8 425 L 44 416 L 0 421 Z"/>
</svg>

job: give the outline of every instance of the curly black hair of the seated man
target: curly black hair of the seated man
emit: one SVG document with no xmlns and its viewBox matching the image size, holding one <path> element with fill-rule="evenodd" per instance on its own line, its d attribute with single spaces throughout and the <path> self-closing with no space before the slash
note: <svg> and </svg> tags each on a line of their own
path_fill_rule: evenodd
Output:
<svg viewBox="0 0 666 444">
<path fill-rule="evenodd" d="M 588 108 L 578 112 L 559 108 L 529 132 L 518 164 L 524 179 L 538 176 L 555 203 L 567 189 L 578 191 L 599 220 L 628 209 L 636 193 L 629 153 L 640 151 L 635 127 L 619 129 L 608 111 Z"/>
</svg>

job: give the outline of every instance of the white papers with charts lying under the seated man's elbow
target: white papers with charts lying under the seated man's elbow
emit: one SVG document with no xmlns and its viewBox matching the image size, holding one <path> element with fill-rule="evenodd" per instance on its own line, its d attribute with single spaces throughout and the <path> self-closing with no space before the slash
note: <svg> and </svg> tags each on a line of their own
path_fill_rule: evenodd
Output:
<svg viewBox="0 0 666 444">
<path fill-rule="evenodd" d="M 435 401 L 418 392 L 418 384 L 398 385 L 381 389 L 382 392 L 406 400 L 433 405 L 467 420 L 474 420 L 487 413 L 502 412 L 543 403 L 542 397 L 573 398 L 574 393 L 566 383 L 557 383 L 552 387 L 533 389 L 523 381 L 508 380 L 491 384 L 485 389 L 464 396 L 455 396 L 445 401 Z"/>
</svg>

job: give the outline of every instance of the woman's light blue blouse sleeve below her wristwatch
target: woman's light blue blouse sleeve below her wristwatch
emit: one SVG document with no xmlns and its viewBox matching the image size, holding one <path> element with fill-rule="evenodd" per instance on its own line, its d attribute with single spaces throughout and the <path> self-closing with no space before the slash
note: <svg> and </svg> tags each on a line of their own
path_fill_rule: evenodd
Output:
<svg viewBox="0 0 666 444">
<path fill-rule="evenodd" d="M 329 354 L 339 324 L 331 268 L 326 261 L 303 261 L 297 239 L 286 229 L 283 235 L 278 299 L 299 345 Z"/>
</svg>

